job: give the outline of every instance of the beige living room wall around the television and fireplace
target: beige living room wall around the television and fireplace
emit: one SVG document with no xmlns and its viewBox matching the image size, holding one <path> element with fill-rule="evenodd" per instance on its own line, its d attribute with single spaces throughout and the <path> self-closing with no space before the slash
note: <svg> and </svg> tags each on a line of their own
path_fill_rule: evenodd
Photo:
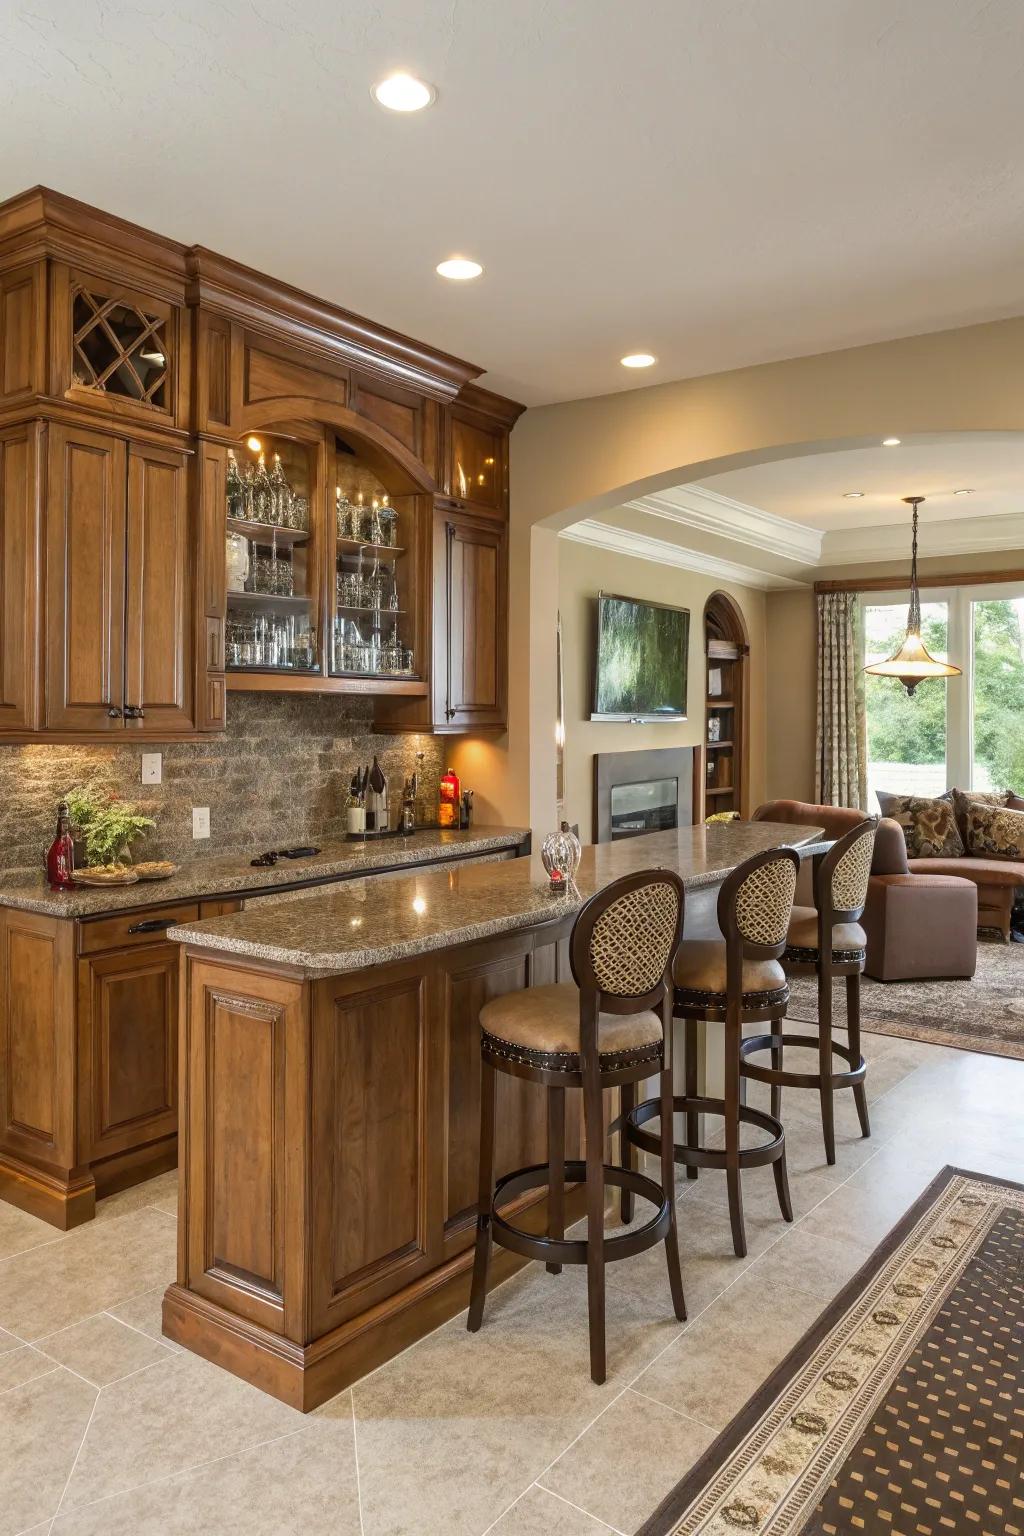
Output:
<svg viewBox="0 0 1024 1536">
<path fill-rule="evenodd" d="M 600 590 L 689 608 L 689 719 L 679 725 L 622 725 L 591 720 L 593 601 Z M 594 753 L 692 746 L 705 739 L 703 611 L 712 591 L 735 599 L 751 641 L 751 805 L 765 790 L 765 593 L 725 585 L 712 576 L 631 559 L 559 539 L 559 608 L 565 676 L 565 816 L 593 842 Z M 540 828 L 537 828 L 540 831 Z"/>
</svg>

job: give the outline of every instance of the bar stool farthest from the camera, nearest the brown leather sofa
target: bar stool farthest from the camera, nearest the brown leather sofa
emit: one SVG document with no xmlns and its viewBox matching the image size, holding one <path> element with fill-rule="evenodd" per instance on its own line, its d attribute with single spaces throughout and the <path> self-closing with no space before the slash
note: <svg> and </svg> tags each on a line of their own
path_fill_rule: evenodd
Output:
<svg viewBox="0 0 1024 1536">
<path fill-rule="evenodd" d="M 743 1041 L 743 1075 L 771 1084 L 771 1111 L 781 1111 L 783 1087 L 814 1087 L 821 1100 L 824 1155 L 835 1163 L 835 1091 L 854 1089 L 861 1135 L 870 1135 L 864 1077 L 867 1063 L 860 1046 L 860 978 L 864 969 L 867 937 L 858 919 L 867 902 L 867 877 L 875 849 L 878 822 L 861 822 L 840 837 L 824 856 L 815 857 L 814 906 L 795 906 L 789 923 L 789 938 L 783 966 L 788 975 L 817 975 L 818 1017 L 794 1018 L 795 1025 L 812 1025 L 814 1035 L 757 1035 Z M 849 1044 L 832 1038 L 832 980 L 846 977 L 846 1026 Z M 817 1072 L 788 1072 L 783 1068 L 785 1046 L 811 1046 L 818 1051 Z M 749 1058 L 771 1051 L 772 1064 L 761 1066 Z M 834 1071 L 835 1057 L 846 1063 Z"/>
</svg>

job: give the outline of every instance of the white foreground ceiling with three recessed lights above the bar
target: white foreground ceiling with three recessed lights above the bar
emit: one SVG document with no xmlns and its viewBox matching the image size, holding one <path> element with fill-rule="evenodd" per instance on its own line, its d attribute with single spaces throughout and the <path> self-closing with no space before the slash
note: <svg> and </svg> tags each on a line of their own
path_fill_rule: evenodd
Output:
<svg viewBox="0 0 1024 1536">
<path fill-rule="evenodd" d="M 1021 0 L 15 0 L 0 197 L 567 399 L 1024 310 L 1022 57 Z M 370 100 L 398 66 L 436 106 Z"/>
</svg>

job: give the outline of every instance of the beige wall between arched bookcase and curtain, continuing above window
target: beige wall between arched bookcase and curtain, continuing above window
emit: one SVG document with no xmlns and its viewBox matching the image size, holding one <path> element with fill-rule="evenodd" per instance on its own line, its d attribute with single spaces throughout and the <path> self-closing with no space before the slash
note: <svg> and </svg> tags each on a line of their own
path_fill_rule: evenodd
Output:
<svg viewBox="0 0 1024 1536">
<path fill-rule="evenodd" d="M 923 559 L 923 576 L 960 576 L 1024 568 L 1024 550 L 943 554 Z M 907 561 L 877 565 L 823 565 L 814 581 L 858 582 L 906 576 Z M 768 593 L 768 799 L 814 800 L 817 621 L 814 591 Z"/>
</svg>

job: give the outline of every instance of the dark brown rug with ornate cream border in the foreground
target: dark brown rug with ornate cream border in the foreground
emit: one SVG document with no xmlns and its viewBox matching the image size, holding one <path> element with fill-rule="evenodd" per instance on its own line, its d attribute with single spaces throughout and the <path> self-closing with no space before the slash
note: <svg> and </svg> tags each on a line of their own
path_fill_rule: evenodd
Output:
<svg viewBox="0 0 1024 1536">
<path fill-rule="evenodd" d="M 1024 1530 L 1024 1186 L 947 1167 L 639 1536 Z"/>
</svg>

